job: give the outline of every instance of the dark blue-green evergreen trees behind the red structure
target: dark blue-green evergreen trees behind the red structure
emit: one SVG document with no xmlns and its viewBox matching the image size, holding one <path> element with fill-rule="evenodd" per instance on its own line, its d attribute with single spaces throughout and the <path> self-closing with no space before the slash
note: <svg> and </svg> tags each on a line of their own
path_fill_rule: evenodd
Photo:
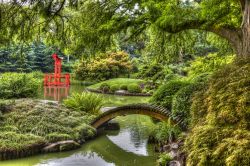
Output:
<svg viewBox="0 0 250 166">
<path fill-rule="evenodd" d="M 51 57 L 53 53 L 64 58 L 63 71 L 70 72 L 71 63 L 67 61 L 67 56 L 42 42 L 0 48 L 0 72 L 53 72 L 54 61 Z"/>
</svg>

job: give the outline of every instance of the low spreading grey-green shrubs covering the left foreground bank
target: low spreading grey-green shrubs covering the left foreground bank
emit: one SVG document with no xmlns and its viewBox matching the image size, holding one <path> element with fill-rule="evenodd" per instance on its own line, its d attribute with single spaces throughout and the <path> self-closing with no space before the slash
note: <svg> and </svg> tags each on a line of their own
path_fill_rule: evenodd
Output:
<svg viewBox="0 0 250 166">
<path fill-rule="evenodd" d="M 16 100 L 0 121 L 0 152 L 24 150 L 33 144 L 92 137 L 93 116 L 34 100 Z"/>
</svg>

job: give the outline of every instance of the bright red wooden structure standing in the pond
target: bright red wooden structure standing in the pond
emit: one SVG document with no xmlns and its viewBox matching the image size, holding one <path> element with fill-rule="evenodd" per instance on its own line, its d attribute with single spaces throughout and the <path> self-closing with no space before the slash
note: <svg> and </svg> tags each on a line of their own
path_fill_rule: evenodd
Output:
<svg viewBox="0 0 250 166">
<path fill-rule="evenodd" d="M 69 86 L 70 74 L 62 74 L 62 59 L 57 54 L 53 54 L 54 73 L 44 75 L 44 86 Z"/>
</svg>

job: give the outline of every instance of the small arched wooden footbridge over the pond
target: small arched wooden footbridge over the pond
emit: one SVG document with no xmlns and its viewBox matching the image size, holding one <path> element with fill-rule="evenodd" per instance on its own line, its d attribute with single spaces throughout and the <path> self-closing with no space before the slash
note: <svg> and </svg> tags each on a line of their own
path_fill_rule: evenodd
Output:
<svg viewBox="0 0 250 166">
<path fill-rule="evenodd" d="M 106 122 L 114 119 L 117 116 L 125 116 L 130 114 L 148 115 L 161 121 L 170 120 L 173 124 L 177 124 L 181 128 L 185 128 L 181 119 L 171 116 L 171 112 L 164 107 L 152 104 L 130 104 L 112 108 L 94 119 L 91 125 L 94 128 L 99 128 Z"/>
</svg>

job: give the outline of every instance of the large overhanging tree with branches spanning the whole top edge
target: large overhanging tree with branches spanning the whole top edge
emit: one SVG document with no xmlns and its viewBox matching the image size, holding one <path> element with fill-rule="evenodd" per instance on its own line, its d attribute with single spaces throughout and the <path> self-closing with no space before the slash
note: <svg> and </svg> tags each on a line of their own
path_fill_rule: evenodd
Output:
<svg viewBox="0 0 250 166">
<path fill-rule="evenodd" d="M 1 38 L 3 34 L 18 32 L 18 24 L 11 23 L 12 19 L 21 25 L 20 28 L 33 25 L 32 29 L 35 29 L 43 23 L 50 27 L 51 21 L 56 27 L 61 27 L 60 32 L 64 32 L 65 27 L 71 27 L 76 31 L 75 35 L 70 34 L 72 40 L 74 37 L 84 39 L 77 33 L 81 27 L 88 29 L 92 26 L 98 36 L 107 36 L 128 28 L 131 35 L 137 35 L 150 26 L 156 26 L 166 33 L 189 29 L 213 32 L 227 39 L 238 56 L 250 55 L 249 0 L 9 0 L 11 10 L 6 7 L 6 2 L 1 3 Z M 77 12 L 78 20 L 83 21 L 79 20 L 77 25 L 74 24 L 76 21 L 70 23 L 74 16 L 67 14 L 65 9 Z M 46 21 L 35 23 L 38 15 Z M 88 25 L 83 26 L 81 22 Z M 29 31 L 34 33 L 32 29 Z M 46 29 L 45 26 L 42 30 L 51 33 L 60 28 Z M 36 32 L 41 33 L 41 30 Z M 20 33 L 25 34 L 25 31 Z M 65 33 L 61 34 L 65 37 Z"/>
</svg>

